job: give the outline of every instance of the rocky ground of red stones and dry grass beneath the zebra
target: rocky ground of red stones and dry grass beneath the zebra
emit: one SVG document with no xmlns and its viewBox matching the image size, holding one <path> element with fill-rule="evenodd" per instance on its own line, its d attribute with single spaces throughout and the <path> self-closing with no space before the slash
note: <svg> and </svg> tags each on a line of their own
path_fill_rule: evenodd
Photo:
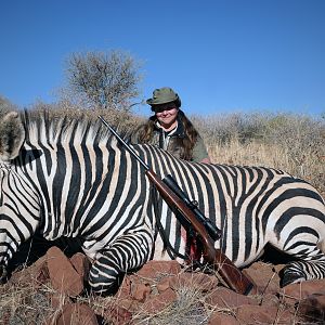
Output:
<svg viewBox="0 0 325 325">
<path fill-rule="evenodd" d="M 245 269 L 258 294 L 244 296 L 214 274 L 151 261 L 107 297 L 88 290 L 89 265 L 54 246 L 15 271 L 0 287 L 0 324 L 325 324 L 325 280 L 280 288 L 282 264 Z"/>
</svg>

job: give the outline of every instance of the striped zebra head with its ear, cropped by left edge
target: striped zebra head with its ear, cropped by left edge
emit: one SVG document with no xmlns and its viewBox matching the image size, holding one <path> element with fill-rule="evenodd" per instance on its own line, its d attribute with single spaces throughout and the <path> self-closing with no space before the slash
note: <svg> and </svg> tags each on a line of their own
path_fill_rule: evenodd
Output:
<svg viewBox="0 0 325 325">
<path fill-rule="evenodd" d="M 0 121 L 0 281 L 5 277 L 9 260 L 39 222 L 36 193 L 16 168 L 24 140 L 18 114 L 8 113 Z"/>
</svg>

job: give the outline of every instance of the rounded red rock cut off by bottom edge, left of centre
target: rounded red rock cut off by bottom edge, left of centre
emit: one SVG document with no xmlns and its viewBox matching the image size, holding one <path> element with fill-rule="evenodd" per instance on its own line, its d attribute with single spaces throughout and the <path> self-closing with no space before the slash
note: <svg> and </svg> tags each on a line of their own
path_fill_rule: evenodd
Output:
<svg viewBox="0 0 325 325">
<path fill-rule="evenodd" d="M 61 315 L 56 318 L 55 325 L 98 325 L 95 313 L 87 304 L 69 303 L 63 307 Z"/>
</svg>

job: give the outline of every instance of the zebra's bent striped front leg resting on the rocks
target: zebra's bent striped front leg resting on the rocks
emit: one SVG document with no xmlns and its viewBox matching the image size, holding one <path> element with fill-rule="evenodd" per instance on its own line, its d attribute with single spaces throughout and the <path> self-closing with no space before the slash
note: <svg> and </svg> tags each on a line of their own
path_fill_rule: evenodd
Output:
<svg viewBox="0 0 325 325">
<path fill-rule="evenodd" d="M 118 237 L 108 249 L 96 255 L 90 269 L 89 284 L 96 294 L 107 292 L 117 278 L 148 261 L 153 237 L 148 233 L 129 233 Z"/>
</svg>

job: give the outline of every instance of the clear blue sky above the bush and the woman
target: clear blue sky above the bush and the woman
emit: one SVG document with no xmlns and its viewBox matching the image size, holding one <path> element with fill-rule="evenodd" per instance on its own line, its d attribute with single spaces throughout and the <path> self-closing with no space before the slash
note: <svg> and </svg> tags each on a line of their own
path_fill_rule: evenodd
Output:
<svg viewBox="0 0 325 325">
<path fill-rule="evenodd" d="M 190 114 L 325 113 L 324 0 L 3 0 L 0 94 L 55 101 L 73 52 L 122 50 Z M 147 108 L 144 110 L 150 113 Z"/>
</svg>

